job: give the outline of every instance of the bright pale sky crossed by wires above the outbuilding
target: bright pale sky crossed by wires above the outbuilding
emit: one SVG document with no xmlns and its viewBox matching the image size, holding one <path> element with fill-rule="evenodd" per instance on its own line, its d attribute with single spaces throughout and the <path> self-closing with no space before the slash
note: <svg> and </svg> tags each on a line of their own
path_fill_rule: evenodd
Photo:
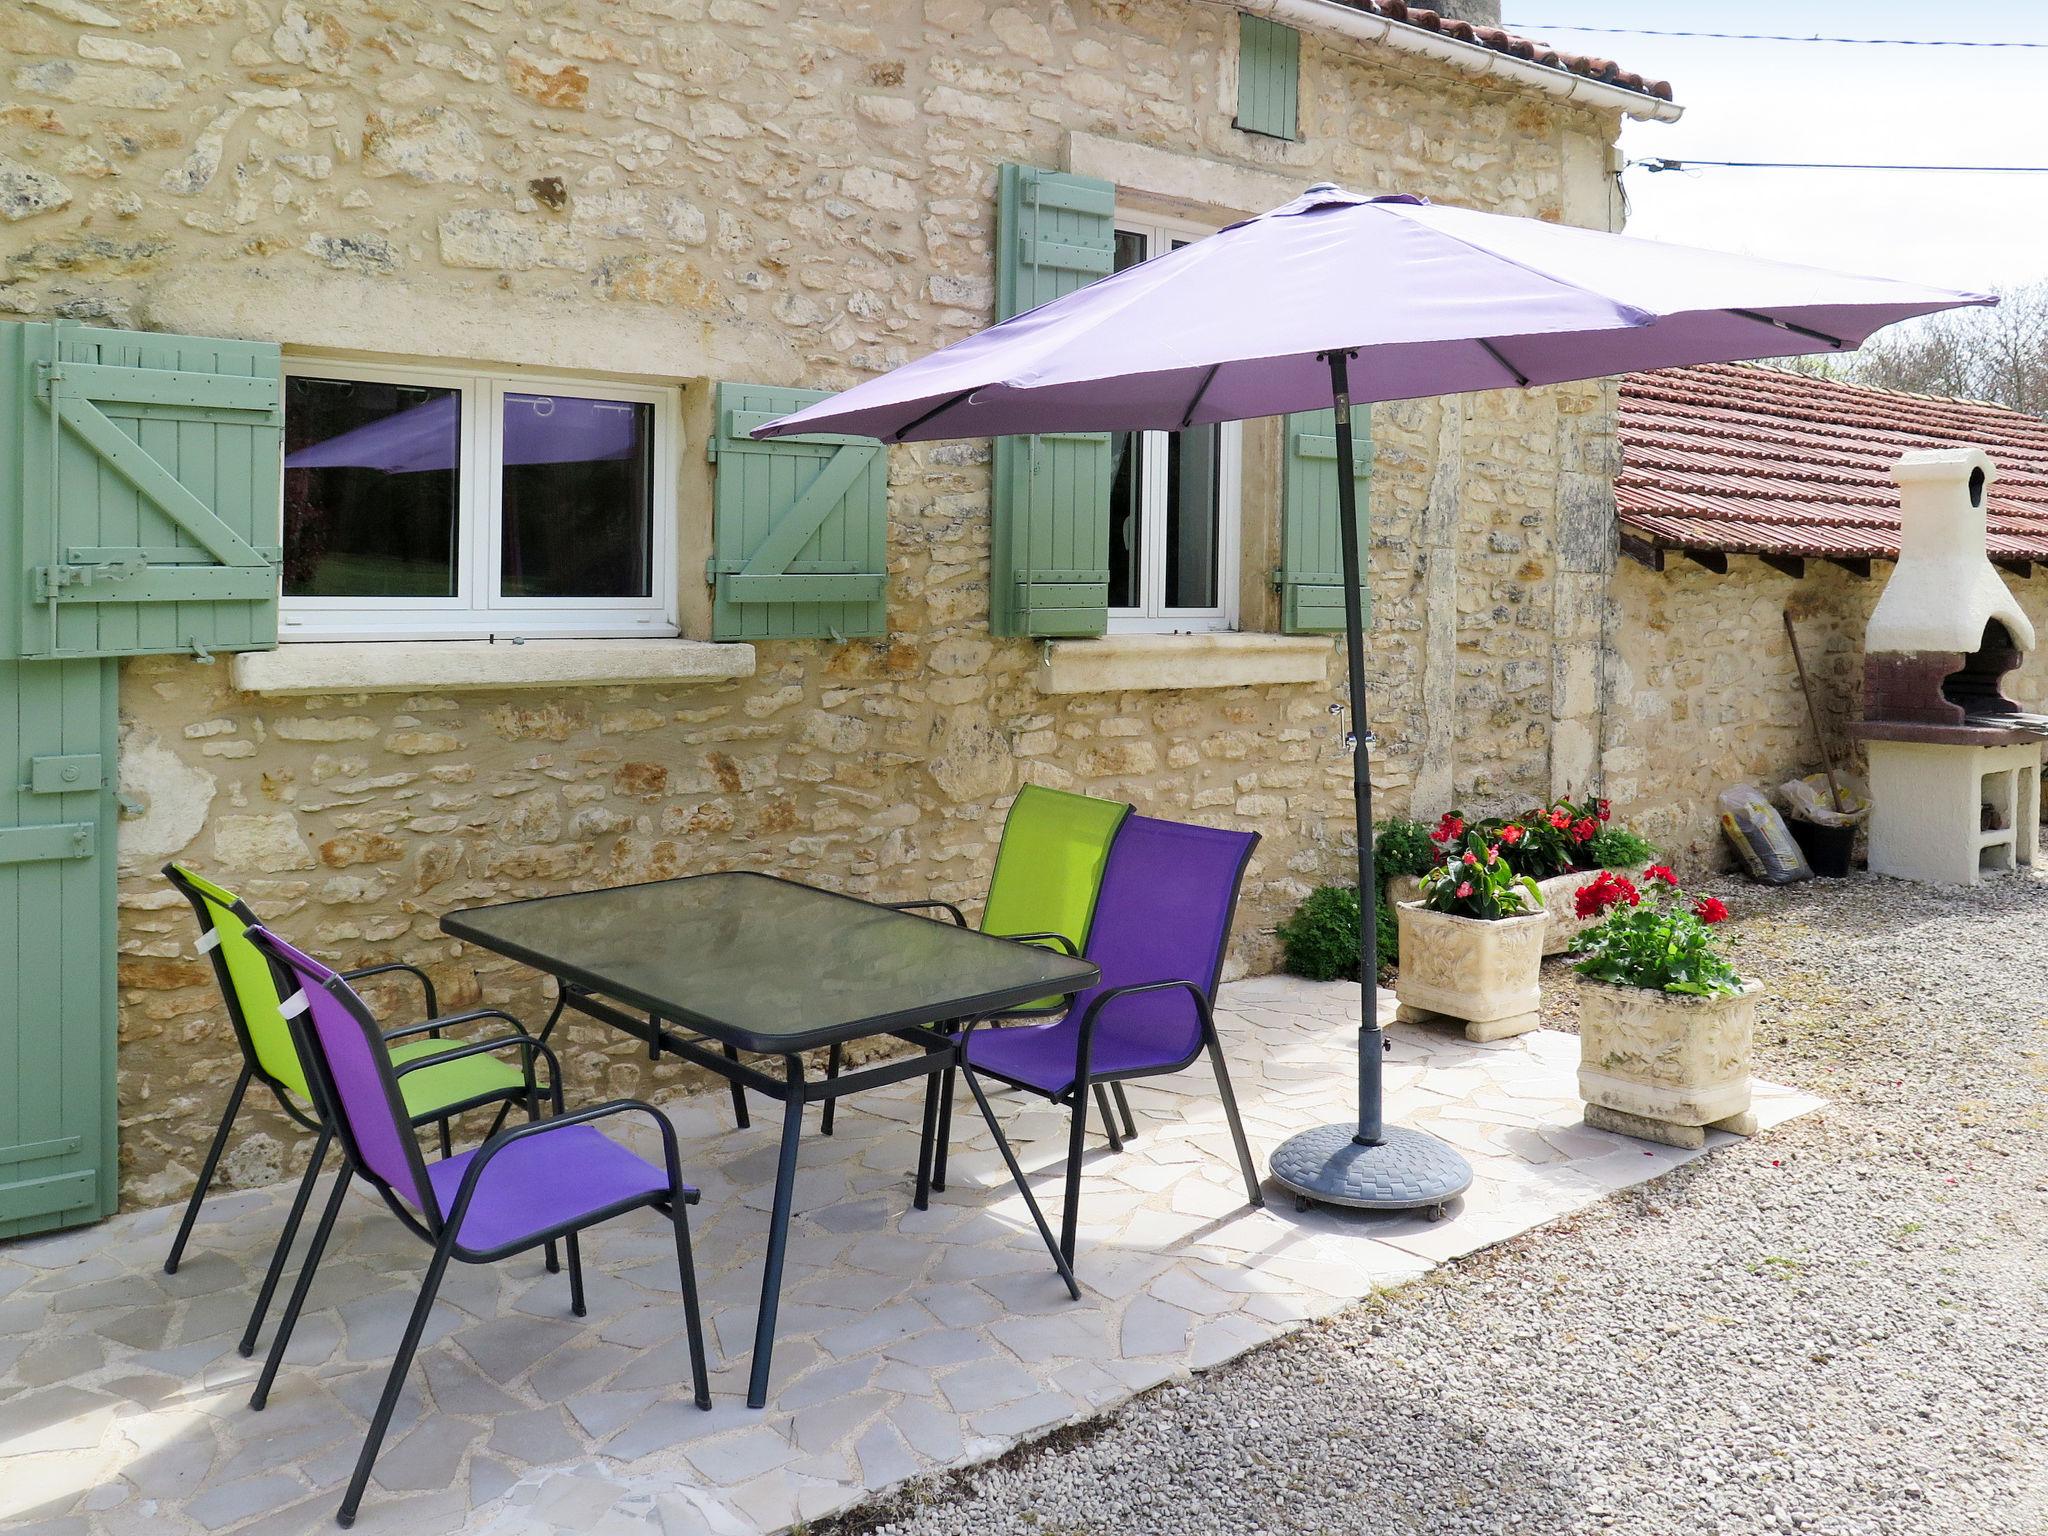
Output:
<svg viewBox="0 0 2048 1536">
<path fill-rule="evenodd" d="M 1507 0 L 1509 31 L 1669 80 L 1630 160 L 2048 166 L 2048 0 Z M 1573 27 L 2009 39 L 2036 49 L 1604 35 Z M 1954 289 L 2048 281 L 2048 174 L 1630 170 L 1628 233 Z"/>
</svg>

